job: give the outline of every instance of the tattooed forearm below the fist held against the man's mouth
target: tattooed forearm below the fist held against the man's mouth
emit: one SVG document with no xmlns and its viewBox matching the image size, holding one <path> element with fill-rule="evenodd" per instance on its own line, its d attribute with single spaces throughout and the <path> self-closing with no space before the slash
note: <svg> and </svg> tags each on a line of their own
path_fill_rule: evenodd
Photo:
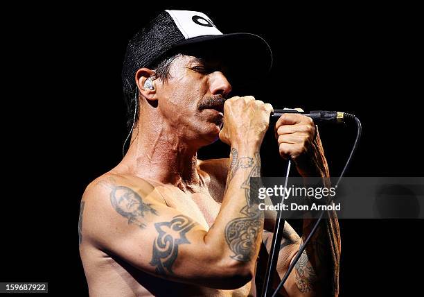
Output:
<svg viewBox="0 0 424 297">
<path fill-rule="evenodd" d="M 205 242 L 234 266 L 253 271 L 263 230 L 263 213 L 250 197 L 250 178 L 260 176 L 258 146 L 231 147 L 227 187 L 220 213 Z"/>
</svg>

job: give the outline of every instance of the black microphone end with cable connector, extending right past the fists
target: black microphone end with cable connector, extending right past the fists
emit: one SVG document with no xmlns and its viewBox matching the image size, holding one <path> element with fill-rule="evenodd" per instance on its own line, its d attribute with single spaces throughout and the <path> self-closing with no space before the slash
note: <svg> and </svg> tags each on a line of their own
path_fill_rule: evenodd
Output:
<svg viewBox="0 0 424 297">
<path fill-rule="evenodd" d="M 303 113 L 301 108 L 284 108 L 283 110 L 274 110 L 270 120 L 276 122 L 285 113 L 298 113 L 310 117 L 315 124 L 344 124 L 355 121 L 355 115 L 348 112 L 337 112 L 327 110 L 311 110 L 309 113 Z"/>
</svg>

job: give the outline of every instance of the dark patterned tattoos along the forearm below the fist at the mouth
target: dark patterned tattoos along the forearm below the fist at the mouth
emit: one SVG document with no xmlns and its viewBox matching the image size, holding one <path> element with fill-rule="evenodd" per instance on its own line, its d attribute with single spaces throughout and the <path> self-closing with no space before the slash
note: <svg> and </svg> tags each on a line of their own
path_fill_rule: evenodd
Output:
<svg viewBox="0 0 424 297">
<path fill-rule="evenodd" d="M 263 212 L 258 209 L 258 201 L 252 201 L 250 197 L 250 178 L 260 176 L 260 156 L 256 152 L 254 158 L 243 157 L 238 159 L 238 153 L 235 148 L 231 150 L 233 160 L 229 169 L 227 186 L 230 180 L 236 175 L 238 169 L 249 169 L 249 176 L 240 186 L 245 189 L 246 205 L 240 210 L 242 217 L 233 219 L 225 227 L 225 239 L 231 251 L 234 253 L 231 257 L 241 262 L 251 260 L 256 253 L 256 241 L 260 231 L 263 229 Z"/>
</svg>

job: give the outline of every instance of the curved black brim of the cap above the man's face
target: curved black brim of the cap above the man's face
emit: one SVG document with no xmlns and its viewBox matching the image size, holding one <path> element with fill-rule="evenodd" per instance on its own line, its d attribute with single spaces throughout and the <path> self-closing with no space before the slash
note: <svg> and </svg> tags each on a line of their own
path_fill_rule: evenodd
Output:
<svg viewBox="0 0 424 297">
<path fill-rule="evenodd" d="M 270 45 L 251 33 L 194 37 L 180 42 L 174 49 L 222 58 L 231 67 L 233 76 L 245 76 L 251 71 L 267 74 L 272 67 Z"/>
</svg>

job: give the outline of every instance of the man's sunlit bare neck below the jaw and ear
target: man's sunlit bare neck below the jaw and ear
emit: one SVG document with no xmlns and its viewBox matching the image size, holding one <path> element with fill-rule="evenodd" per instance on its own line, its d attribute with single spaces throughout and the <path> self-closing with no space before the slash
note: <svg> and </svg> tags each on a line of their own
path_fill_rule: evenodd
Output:
<svg viewBox="0 0 424 297">
<path fill-rule="evenodd" d="M 168 126 L 157 114 L 141 112 L 140 119 L 121 162 L 125 171 L 180 189 L 200 185 L 198 148 L 184 141 L 183 131 Z"/>
</svg>

